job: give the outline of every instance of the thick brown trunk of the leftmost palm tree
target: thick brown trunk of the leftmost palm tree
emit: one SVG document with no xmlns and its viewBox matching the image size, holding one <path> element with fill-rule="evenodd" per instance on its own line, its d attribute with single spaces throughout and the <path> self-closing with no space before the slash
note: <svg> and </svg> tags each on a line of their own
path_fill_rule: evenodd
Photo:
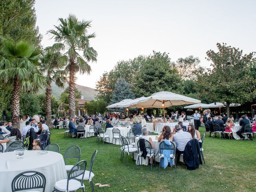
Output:
<svg viewBox="0 0 256 192">
<path fill-rule="evenodd" d="M 18 77 L 14 78 L 12 91 L 12 126 L 20 128 L 20 84 Z"/>
</svg>

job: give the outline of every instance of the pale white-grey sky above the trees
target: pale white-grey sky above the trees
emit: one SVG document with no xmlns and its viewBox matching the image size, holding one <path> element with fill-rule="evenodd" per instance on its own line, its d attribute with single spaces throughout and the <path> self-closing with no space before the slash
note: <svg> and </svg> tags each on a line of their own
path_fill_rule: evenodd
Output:
<svg viewBox="0 0 256 192">
<path fill-rule="evenodd" d="M 217 42 L 256 51 L 254 0 L 36 0 L 42 45 L 51 46 L 48 30 L 58 18 L 75 14 L 92 20 L 91 46 L 98 52 L 90 75 L 77 74 L 77 84 L 95 88 L 97 80 L 120 60 L 167 52 L 172 61 L 193 55 L 208 67 L 206 51 Z"/>
</svg>

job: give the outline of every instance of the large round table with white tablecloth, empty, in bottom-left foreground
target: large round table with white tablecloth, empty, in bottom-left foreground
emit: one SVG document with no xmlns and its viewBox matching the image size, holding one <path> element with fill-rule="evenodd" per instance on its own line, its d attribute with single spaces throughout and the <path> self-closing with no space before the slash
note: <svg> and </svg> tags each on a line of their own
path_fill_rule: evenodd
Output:
<svg viewBox="0 0 256 192">
<path fill-rule="evenodd" d="M 15 152 L 0 154 L 0 191 L 12 191 L 11 184 L 14 177 L 24 171 L 38 171 L 46 178 L 45 191 L 52 191 L 55 182 L 66 179 L 67 172 L 63 156 L 48 151 L 40 155 L 38 151 L 25 151 L 23 159 L 17 159 Z"/>
</svg>

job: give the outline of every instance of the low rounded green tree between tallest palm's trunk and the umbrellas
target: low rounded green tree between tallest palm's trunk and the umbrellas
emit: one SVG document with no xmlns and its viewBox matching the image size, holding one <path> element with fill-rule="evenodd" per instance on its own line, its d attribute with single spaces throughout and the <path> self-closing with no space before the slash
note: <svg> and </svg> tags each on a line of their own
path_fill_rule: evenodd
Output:
<svg viewBox="0 0 256 192">
<path fill-rule="evenodd" d="M 104 114 L 106 106 L 108 106 L 108 104 L 104 100 L 91 100 L 84 104 L 87 114 Z"/>
</svg>

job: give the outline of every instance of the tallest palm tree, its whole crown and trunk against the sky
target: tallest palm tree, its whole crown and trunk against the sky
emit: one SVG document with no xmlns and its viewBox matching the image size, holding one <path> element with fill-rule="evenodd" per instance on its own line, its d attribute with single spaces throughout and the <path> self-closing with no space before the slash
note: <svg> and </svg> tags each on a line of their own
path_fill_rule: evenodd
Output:
<svg viewBox="0 0 256 192">
<path fill-rule="evenodd" d="M 78 21 L 72 14 L 66 19 L 59 18 L 59 21 L 60 24 L 55 26 L 55 30 L 49 30 L 48 33 L 52 34 L 52 38 L 57 42 L 52 46 L 53 49 L 64 52 L 63 56 L 68 62 L 65 70 L 69 73 L 69 111 L 70 118 L 75 118 L 76 73 L 90 74 L 91 67 L 88 62 L 96 61 L 98 55 L 89 42 L 91 38 L 95 38 L 95 34 L 87 34 L 91 21 Z"/>
</svg>

